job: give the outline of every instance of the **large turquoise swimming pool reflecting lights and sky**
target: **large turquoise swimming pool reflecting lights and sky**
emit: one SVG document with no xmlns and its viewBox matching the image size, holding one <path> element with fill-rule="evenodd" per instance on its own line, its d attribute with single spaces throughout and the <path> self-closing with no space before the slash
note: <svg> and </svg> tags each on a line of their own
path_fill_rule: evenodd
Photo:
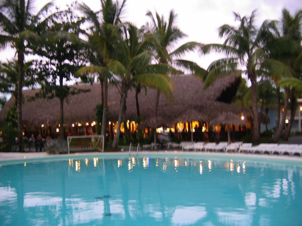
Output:
<svg viewBox="0 0 302 226">
<path fill-rule="evenodd" d="M 300 163 L 142 153 L 0 165 L 0 225 L 302 223 Z"/>
</svg>

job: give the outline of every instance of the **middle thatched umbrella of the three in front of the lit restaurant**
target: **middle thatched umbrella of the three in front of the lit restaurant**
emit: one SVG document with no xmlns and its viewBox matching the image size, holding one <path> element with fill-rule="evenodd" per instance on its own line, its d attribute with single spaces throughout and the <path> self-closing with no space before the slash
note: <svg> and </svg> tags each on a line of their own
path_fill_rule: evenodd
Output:
<svg viewBox="0 0 302 226">
<path fill-rule="evenodd" d="M 198 111 L 196 109 L 187 109 L 181 115 L 179 115 L 175 120 L 190 122 L 191 125 L 191 141 L 193 142 L 193 129 L 192 129 L 192 121 L 208 121 L 210 118 L 207 114 L 202 111 Z"/>
</svg>

